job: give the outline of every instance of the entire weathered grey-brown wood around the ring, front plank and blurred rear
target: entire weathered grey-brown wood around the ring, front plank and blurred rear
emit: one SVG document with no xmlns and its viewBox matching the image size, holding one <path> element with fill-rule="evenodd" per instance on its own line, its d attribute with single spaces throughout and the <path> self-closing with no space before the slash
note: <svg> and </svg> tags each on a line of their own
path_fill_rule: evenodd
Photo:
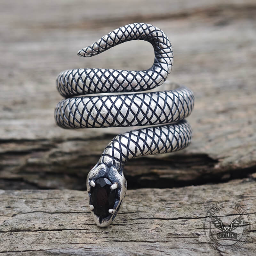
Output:
<svg viewBox="0 0 256 256">
<path fill-rule="evenodd" d="M 1 255 L 217 255 L 203 219 L 220 200 L 244 205 L 251 218 L 248 242 L 230 255 L 254 255 L 254 0 L 0 2 Z M 142 41 L 76 55 L 132 22 L 169 36 L 174 66 L 157 90 L 175 82 L 194 91 L 194 139 L 180 152 L 128 162 L 123 207 L 102 229 L 88 212 L 85 178 L 124 129 L 57 127 L 55 78 L 69 68 L 149 68 L 153 49 Z"/>
</svg>

